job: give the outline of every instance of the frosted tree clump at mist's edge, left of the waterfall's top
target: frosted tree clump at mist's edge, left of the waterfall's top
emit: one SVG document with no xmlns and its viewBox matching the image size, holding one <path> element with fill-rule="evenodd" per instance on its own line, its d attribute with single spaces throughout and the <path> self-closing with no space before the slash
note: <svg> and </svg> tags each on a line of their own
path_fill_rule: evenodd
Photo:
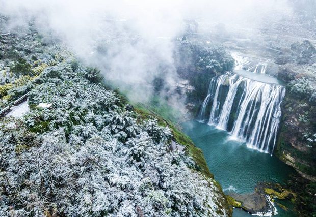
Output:
<svg viewBox="0 0 316 217">
<path fill-rule="evenodd" d="M 178 74 L 195 89 L 188 92 L 188 101 L 199 104 L 207 95 L 210 80 L 232 69 L 234 60 L 221 45 L 189 39 L 178 42 L 176 53 Z"/>
</svg>

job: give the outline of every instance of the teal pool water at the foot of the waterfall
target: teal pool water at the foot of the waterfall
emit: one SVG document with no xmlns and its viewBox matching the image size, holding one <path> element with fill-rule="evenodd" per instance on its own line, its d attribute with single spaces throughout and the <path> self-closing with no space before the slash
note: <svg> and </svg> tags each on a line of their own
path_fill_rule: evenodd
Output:
<svg viewBox="0 0 316 217">
<path fill-rule="evenodd" d="M 251 193 L 259 181 L 284 183 L 294 169 L 275 156 L 248 148 L 245 142 L 232 140 L 227 131 L 197 121 L 182 123 L 183 131 L 202 149 L 210 172 L 224 192 Z M 295 216 L 277 207 L 278 215 Z M 233 216 L 250 216 L 234 209 Z"/>
</svg>

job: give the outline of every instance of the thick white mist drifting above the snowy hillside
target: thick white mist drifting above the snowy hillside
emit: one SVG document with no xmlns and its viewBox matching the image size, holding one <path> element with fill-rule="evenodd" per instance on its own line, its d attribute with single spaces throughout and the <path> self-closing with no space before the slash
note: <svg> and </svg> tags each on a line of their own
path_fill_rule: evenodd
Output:
<svg viewBox="0 0 316 217">
<path fill-rule="evenodd" d="M 242 29 L 291 16 L 292 8 L 285 0 L 0 0 L 0 13 L 11 28 L 34 21 L 40 33 L 60 40 L 138 102 L 150 98 L 156 77 L 166 81 L 164 95 L 181 80 L 173 53 L 183 20 L 206 23 L 200 28 L 206 32 L 215 23 Z"/>
</svg>

